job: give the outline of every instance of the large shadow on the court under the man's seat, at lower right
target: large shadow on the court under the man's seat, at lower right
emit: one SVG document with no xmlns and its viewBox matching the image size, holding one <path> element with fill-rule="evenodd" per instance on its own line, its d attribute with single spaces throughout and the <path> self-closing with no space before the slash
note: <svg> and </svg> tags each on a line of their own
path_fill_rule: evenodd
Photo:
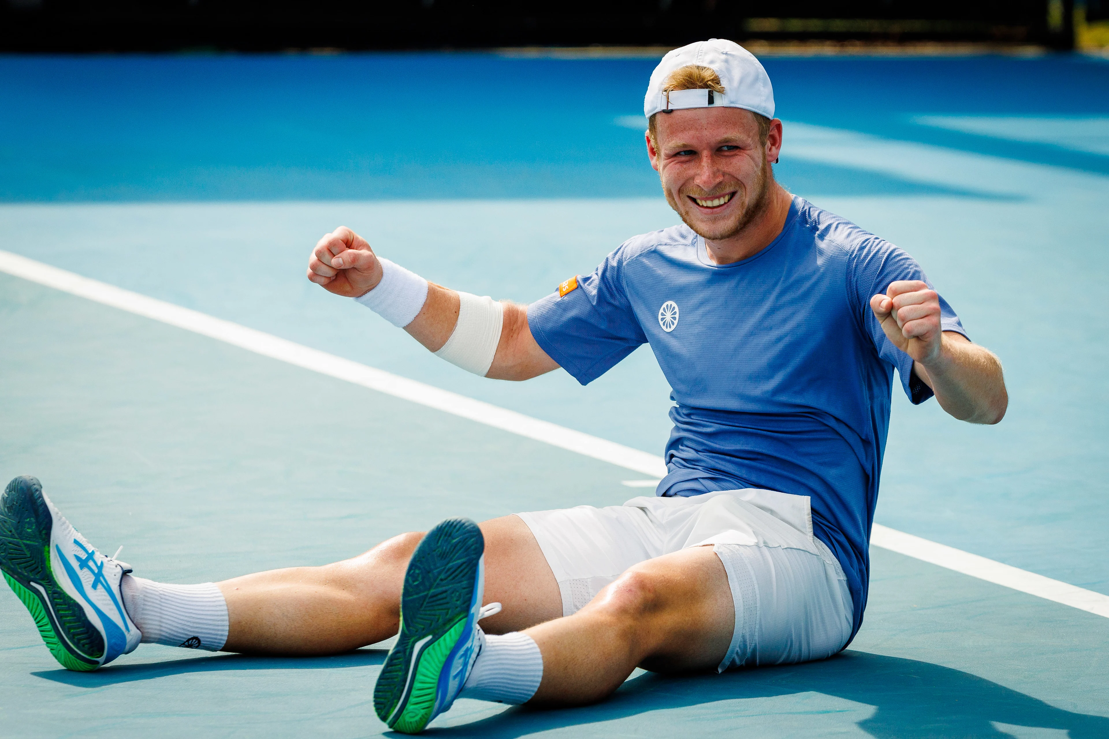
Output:
<svg viewBox="0 0 1109 739">
<path fill-rule="evenodd" d="M 724 675 L 663 677 L 647 674 L 629 680 L 612 698 L 597 706 L 562 710 L 511 708 L 474 723 L 433 729 L 428 733 L 508 739 L 548 729 L 611 721 L 644 711 L 802 692 L 820 692 L 874 706 L 874 715 L 858 726 L 878 739 L 1011 739 L 1011 735 L 998 730 L 991 721 L 1068 730 L 1070 739 L 1109 736 L 1109 718 L 1061 710 L 948 667 L 863 651 L 844 651 L 822 663 Z M 671 723 L 679 716 L 681 714 L 660 716 L 659 720 Z M 791 718 L 797 720 L 796 716 Z M 736 716 L 736 729 L 742 728 L 743 720 L 743 716 Z"/>
</svg>

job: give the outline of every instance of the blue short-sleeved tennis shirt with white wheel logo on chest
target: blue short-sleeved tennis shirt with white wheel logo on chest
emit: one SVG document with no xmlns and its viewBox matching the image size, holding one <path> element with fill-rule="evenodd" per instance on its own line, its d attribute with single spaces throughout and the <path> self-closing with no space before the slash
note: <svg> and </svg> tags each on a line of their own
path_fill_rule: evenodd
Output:
<svg viewBox="0 0 1109 739">
<path fill-rule="evenodd" d="M 635 236 L 576 289 L 529 306 L 528 325 L 582 384 L 651 345 L 676 403 L 659 495 L 808 495 L 813 532 L 847 576 L 854 638 L 894 369 L 914 403 L 933 394 L 871 311 L 899 279 L 927 281 L 902 249 L 795 196 L 782 233 L 747 259 L 712 264 L 684 225 Z M 965 336 L 939 302 L 943 329 Z"/>
</svg>

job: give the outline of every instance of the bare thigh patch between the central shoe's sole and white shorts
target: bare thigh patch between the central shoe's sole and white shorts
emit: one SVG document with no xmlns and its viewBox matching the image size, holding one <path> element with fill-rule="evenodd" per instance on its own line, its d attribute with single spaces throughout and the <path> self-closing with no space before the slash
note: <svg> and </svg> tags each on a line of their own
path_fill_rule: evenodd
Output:
<svg viewBox="0 0 1109 739">
<path fill-rule="evenodd" d="M 539 543 L 519 516 L 480 524 L 486 542 L 485 602 L 503 608 L 481 622 L 490 634 L 519 632 L 562 615 L 562 596 Z M 726 581 L 725 581 L 726 586 Z"/>
</svg>

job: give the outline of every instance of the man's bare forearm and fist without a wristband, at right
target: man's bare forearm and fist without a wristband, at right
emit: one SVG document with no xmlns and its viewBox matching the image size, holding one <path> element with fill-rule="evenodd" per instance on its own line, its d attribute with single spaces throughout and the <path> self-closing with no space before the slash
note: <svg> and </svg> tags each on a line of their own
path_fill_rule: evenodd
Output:
<svg viewBox="0 0 1109 739">
<path fill-rule="evenodd" d="M 1009 396 L 997 356 L 955 331 L 944 331 L 939 296 L 920 280 L 892 283 L 871 298 L 871 310 L 886 337 L 913 358 L 917 377 L 939 406 L 960 421 L 997 423 Z"/>
</svg>

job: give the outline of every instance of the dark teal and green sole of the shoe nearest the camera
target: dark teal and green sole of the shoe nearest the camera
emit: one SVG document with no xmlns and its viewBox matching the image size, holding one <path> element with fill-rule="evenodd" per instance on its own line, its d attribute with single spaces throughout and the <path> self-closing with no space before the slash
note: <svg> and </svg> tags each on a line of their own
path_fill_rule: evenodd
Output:
<svg viewBox="0 0 1109 739">
<path fill-rule="evenodd" d="M 485 538 L 468 519 L 448 519 L 424 537 L 405 573 L 400 634 L 374 688 L 374 709 L 389 728 L 424 730 L 439 678 L 464 636 Z"/>
</svg>

